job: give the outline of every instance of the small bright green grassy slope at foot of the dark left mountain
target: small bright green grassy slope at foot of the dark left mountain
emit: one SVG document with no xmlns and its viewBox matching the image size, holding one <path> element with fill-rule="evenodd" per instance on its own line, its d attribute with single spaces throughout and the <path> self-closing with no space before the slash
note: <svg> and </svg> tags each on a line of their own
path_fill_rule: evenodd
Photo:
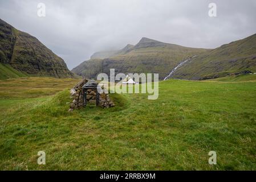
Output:
<svg viewBox="0 0 256 182">
<path fill-rule="evenodd" d="M 18 77 L 27 77 L 26 73 L 21 73 L 11 67 L 9 64 L 0 63 L 0 79 L 6 78 L 18 78 Z"/>
</svg>

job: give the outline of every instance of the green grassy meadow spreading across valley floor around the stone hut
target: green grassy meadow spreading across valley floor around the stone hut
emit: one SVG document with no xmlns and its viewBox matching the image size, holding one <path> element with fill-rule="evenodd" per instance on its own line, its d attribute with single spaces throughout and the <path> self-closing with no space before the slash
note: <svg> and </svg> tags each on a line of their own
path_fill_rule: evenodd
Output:
<svg viewBox="0 0 256 182">
<path fill-rule="evenodd" d="M 116 107 L 73 113 L 78 80 L 0 80 L 0 169 L 255 170 L 256 81 L 247 79 L 162 81 L 157 100 L 111 94 Z"/>
</svg>

